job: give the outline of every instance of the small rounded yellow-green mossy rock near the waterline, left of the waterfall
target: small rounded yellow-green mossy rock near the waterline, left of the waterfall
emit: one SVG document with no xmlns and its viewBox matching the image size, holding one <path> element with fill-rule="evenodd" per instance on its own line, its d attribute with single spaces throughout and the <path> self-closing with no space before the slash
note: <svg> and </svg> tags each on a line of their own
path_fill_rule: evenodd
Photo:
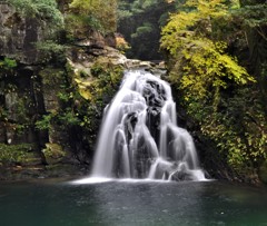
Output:
<svg viewBox="0 0 267 226">
<path fill-rule="evenodd" d="M 46 149 L 42 149 L 42 153 L 49 165 L 58 164 L 66 157 L 66 153 L 60 145 L 48 143 L 46 147 Z"/>
</svg>

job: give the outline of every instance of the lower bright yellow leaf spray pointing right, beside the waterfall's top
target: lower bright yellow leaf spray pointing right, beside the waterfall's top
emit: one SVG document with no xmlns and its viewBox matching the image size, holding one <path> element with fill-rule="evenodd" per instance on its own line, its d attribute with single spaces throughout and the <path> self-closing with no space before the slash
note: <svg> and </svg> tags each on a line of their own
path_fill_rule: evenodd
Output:
<svg viewBox="0 0 267 226">
<path fill-rule="evenodd" d="M 226 78 L 238 85 L 245 85 L 253 80 L 246 69 L 237 63 L 237 61 L 226 55 L 225 42 L 214 42 L 206 38 L 195 38 L 184 40 L 179 56 L 184 60 L 180 61 L 181 76 L 179 82 L 187 95 L 195 94 L 201 98 L 210 92 L 210 87 L 219 87 L 226 89 L 228 83 Z"/>
</svg>

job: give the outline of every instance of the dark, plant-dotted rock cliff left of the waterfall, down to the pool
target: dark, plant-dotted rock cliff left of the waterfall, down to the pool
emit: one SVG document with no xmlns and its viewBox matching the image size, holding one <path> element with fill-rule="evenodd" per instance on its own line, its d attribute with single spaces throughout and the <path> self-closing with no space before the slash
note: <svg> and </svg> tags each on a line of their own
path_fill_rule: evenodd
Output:
<svg viewBox="0 0 267 226">
<path fill-rule="evenodd" d="M 34 43 L 44 40 L 44 27 L 0 3 L 0 180 L 87 170 L 103 102 L 120 82 L 112 69 L 122 68 L 126 58 L 109 47 L 115 46 L 112 36 L 92 31 L 68 48 L 61 63 L 43 62 Z M 7 58 L 17 66 L 4 68 Z M 98 76 L 111 75 L 113 83 L 100 83 Z M 96 95 L 95 85 L 105 90 L 98 105 L 86 98 L 87 90 Z"/>
</svg>

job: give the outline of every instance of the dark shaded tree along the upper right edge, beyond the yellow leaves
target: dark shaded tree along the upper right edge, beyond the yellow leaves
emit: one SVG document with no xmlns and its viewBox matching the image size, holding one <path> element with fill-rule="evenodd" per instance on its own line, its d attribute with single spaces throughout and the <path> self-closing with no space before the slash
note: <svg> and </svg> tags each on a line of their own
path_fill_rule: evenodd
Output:
<svg viewBox="0 0 267 226">
<path fill-rule="evenodd" d="M 234 17 L 241 21 L 246 33 L 249 59 L 248 66 L 256 76 L 263 102 L 267 102 L 267 4 L 264 0 L 241 0 L 241 8 Z M 267 114 L 267 105 L 265 105 Z"/>
</svg>

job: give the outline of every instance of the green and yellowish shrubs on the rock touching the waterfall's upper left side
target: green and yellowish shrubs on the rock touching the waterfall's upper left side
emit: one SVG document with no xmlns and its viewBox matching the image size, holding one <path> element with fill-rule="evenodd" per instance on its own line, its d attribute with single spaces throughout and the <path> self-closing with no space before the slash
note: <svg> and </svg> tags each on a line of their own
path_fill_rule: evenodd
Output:
<svg viewBox="0 0 267 226">
<path fill-rule="evenodd" d="M 63 116 L 61 121 L 62 124 L 66 124 L 65 120 L 71 121 L 90 136 L 91 140 L 96 140 L 96 130 L 99 129 L 102 110 L 118 90 L 123 69 L 121 66 L 115 66 L 107 58 L 99 58 L 90 67 L 90 71 L 77 70 L 73 67 L 67 65 L 68 73 L 72 79 L 72 91 L 60 94 L 63 101 L 69 99 L 69 104 L 72 102 L 69 105 L 72 107 L 60 112 Z"/>
</svg>

